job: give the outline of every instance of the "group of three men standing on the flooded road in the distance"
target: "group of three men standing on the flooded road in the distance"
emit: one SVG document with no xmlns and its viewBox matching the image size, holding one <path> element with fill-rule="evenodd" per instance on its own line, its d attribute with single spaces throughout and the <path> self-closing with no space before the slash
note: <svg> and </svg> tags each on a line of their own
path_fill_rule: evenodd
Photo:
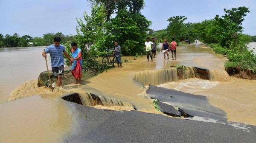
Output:
<svg viewBox="0 0 256 143">
<path fill-rule="evenodd" d="M 166 39 L 164 39 L 162 49 L 161 49 L 161 52 L 163 52 L 163 58 L 166 59 L 166 55 L 167 55 L 167 59 L 169 59 L 168 52 L 171 51 L 172 60 L 176 60 L 176 48 L 177 48 L 177 42 L 174 41 L 174 38 L 172 38 L 172 42 L 170 44 L 169 42 L 166 41 Z M 149 56 L 151 58 L 151 61 L 153 62 L 153 58 L 156 56 L 156 53 L 157 53 L 155 38 L 152 38 L 152 42 L 149 41 L 148 37 L 146 38 L 144 50 L 147 55 L 148 62 L 149 62 Z M 175 54 L 175 59 L 173 58 L 173 53 Z"/>
</svg>

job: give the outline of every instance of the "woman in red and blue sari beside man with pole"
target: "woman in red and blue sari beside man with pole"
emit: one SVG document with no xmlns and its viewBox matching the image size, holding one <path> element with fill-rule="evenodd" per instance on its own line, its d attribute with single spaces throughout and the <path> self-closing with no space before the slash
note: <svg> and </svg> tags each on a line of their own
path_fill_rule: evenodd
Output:
<svg viewBox="0 0 256 143">
<path fill-rule="evenodd" d="M 82 65 L 83 65 L 82 51 L 80 48 L 77 48 L 76 42 L 72 42 L 71 47 L 72 47 L 71 52 L 72 52 L 72 61 L 73 61 L 72 67 L 71 67 L 71 73 L 76 79 L 76 82 L 74 82 L 73 84 L 81 84 Z"/>
</svg>

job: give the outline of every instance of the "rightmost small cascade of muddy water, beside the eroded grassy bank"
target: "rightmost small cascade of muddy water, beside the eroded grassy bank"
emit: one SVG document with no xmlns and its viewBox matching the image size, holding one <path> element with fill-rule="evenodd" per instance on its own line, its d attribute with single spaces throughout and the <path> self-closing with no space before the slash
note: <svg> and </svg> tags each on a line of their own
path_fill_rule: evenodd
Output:
<svg viewBox="0 0 256 143">
<path fill-rule="evenodd" d="M 230 82 L 230 76 L 225 70 L 209 70 L 209 81 Z"/>
</svg>

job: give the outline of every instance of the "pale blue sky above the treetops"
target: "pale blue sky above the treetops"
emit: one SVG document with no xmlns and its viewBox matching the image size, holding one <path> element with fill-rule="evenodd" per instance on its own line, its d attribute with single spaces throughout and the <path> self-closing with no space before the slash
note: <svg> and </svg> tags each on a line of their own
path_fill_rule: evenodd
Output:
<svg viewBox="0 0 256 143">
<path fill-rule="evenodd" d="M 169 17 L 185 16 L 184 22 L 202 22 L 225 14 L 224 8 L 245 6 L 244 34 L 256 35 L 256 0 L 144 0 L 142 14 L 152 22 L 154 31 L 166 29 Z M 178 2 L 178 3 L 177 3 Z M 0 34 L 42 37 L 62 32 L 76 35 L 76 18 L 90 14 L 87 0 L 0 0 Z"/>
</svg>

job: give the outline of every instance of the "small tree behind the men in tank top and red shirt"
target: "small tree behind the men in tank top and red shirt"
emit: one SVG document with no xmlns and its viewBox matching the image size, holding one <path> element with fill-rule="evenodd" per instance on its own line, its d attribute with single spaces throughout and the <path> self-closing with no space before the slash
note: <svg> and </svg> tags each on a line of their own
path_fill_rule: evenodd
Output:
<svg viewBox="0 0 256 143">
<path fill-rule="evenodd" d="M 185 16 L 176 16 L 176 17 L 170 17 L 168 21 L 170 22 L 167 26 L 168 35 L 170 37 L 174 37 L 175 39 L 180 39 L 180 31 L 181 28 L 184 26 L 184 20 L 187 18 Z"/>
</svg>

